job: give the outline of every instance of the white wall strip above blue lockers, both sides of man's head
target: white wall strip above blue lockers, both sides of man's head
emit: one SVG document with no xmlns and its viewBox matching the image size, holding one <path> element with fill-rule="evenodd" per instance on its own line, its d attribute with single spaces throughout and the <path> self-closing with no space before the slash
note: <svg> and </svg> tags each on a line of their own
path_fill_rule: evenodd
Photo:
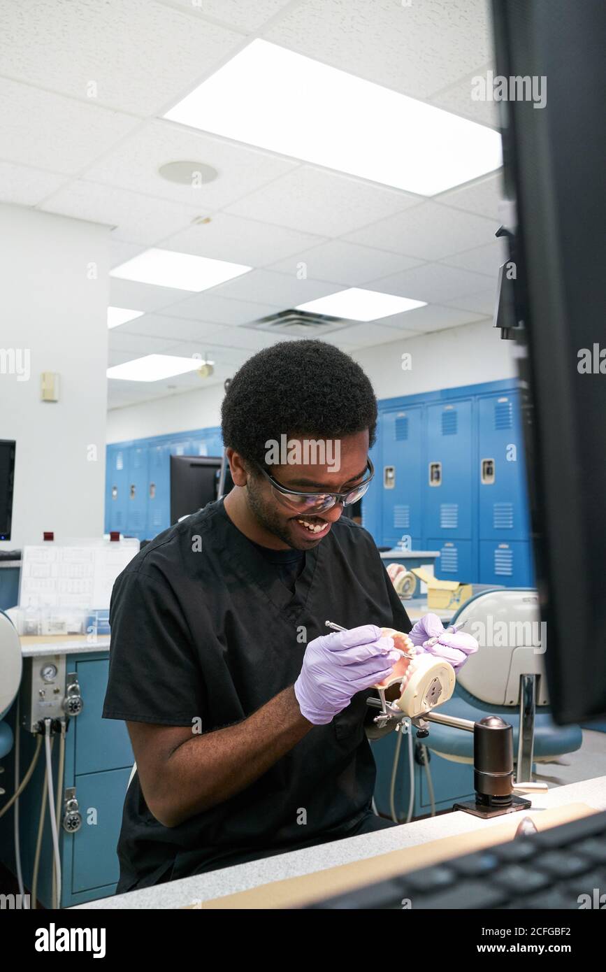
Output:
<svg viewBox="0 0 606 972">
<path fill-rule="evenodd" d="M 491 325 L 486 320 L 434 331 L 357 351 L 353 357 L 368 374 L 379 399 L 511 378 L 516 374 L 513 342 L 501 341 Z M 404 352 L 412 356 L 410 370 L 402 369 Z M 108 441 L 217 426 L 223 394 L 218 384 L 205 391 L 112 409 Z"/>
</svg>

